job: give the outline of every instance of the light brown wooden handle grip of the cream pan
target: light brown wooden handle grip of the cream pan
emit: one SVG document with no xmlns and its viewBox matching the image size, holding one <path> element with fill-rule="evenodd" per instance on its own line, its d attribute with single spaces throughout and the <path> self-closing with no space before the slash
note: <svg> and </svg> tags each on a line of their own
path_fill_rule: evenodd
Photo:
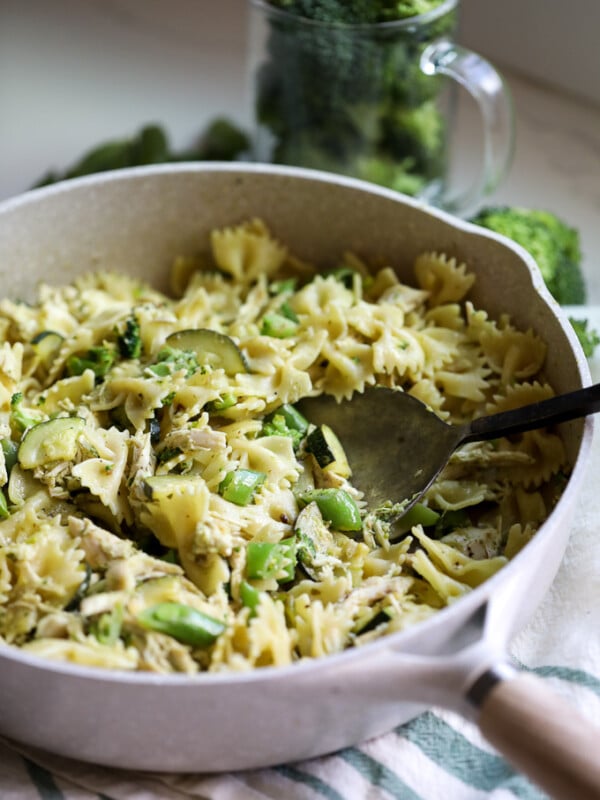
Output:
<svg viewBox="0 0 600 800">
<path fill-rule="evenodd" d="M 600 798 L 600 728 L 544 682 L 521 675 L 495 683 L 480 706 L 486 739 L 557 800 Z"/>
</svg>

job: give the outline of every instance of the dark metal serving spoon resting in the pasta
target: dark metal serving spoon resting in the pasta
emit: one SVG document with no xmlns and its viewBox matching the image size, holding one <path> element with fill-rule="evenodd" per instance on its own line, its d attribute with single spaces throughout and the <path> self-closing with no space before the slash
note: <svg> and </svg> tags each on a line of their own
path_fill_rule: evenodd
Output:
<svg viewBox="0 0 600 800">
<path fill-rule="evenodd" d="M 328 395 L 305 398 L 298 407 L 311 422 L 335 431 L 352 468 L 352 482 L 364 492 L 369 507 L 406 501 L 404 513 L 460 445 L 600 411 L 600 384 L 464 425 L 448 425 L 420 400 L 384 387 L 367 388 L 342 402 Z"/>
</svg>

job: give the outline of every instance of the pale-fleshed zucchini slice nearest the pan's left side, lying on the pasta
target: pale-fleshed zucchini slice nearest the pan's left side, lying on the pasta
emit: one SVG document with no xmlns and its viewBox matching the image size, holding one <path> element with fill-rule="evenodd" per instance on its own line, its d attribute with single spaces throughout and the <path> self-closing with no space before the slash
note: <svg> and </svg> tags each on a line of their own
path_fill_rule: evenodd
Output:
<svg viewBox="0 0 600 800">
<path fill-rule="evenodd" d="M 35 469 L 53 461 L 71 461 L 84 427 L 82 417 L 56 417 L 34 425 L 19 445 L 19 464 L 24 469 Z"/>
</svg>

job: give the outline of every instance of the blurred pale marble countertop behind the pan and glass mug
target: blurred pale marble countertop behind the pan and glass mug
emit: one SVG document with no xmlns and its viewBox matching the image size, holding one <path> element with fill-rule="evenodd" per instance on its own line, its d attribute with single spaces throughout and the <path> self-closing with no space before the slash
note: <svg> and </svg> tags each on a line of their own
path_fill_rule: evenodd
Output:
<svg viewBox="0 0 600 800">
<path fill-rule="evenodd" d="M 0 199 L 149 121 L 163 122 L 177 148 L 216 114 L 246 124 L 246 18 L 246 0 L 2 0 Z M 546 207 L 576 226 L 589 300 L 600 303 L 600 107 L 505 74 L 517 147 L 490 200 Z M 459 168 L 473 168 L 477 141 L 463 100 Z"/>
</svg>

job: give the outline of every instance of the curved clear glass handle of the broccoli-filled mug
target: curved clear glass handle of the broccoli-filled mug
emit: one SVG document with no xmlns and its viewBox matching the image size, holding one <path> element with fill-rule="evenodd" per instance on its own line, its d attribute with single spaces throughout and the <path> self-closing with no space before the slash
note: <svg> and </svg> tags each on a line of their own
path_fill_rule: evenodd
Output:
<svg viewBox="0 0 600 800">
<path fill-rule="evenodd" d="M 455 214 L 472 213 L 508 172 L 514 151 L 514 111 L 502 76 L 482 56 L 448 41 L 423 50 L 421 70 L 447 75 L 477 102 L 483 119 L 483 164 L 471 186 L 455 196 L 442 196 L 439 205 Z"/>
</svg>

